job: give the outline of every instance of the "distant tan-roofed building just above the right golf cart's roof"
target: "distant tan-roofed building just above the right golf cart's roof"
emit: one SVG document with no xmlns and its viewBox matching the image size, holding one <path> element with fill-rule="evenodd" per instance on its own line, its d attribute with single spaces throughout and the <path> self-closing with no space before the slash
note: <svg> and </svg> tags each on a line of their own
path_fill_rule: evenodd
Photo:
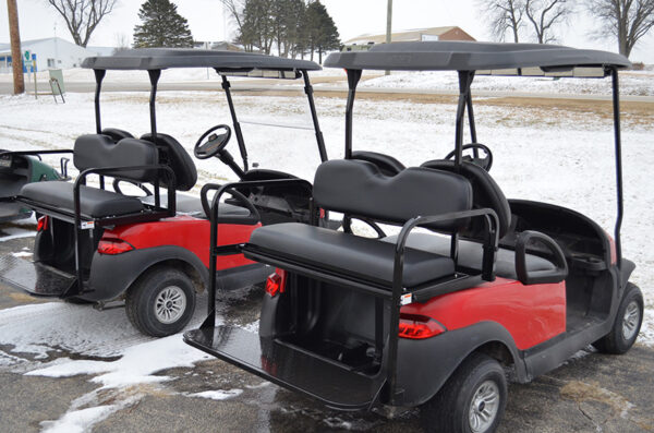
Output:
<svg viewBox="0 0 654 433">
<path fill-rule="evenodd" d="M 407 41 L 426 41 L 426 40 L 475 40 L 472 36 L 465 33 L 461 27 L 429 27 L 414 28 L 410 31 L 393 32 L 390 35 L 392 43 Z M 356 36 L 350 40 L 346 40 L 343 50 L 361 50 L 368 49 L 375 44 L 386 43 L 386 34 L 366 34 Z"/>
</svg>

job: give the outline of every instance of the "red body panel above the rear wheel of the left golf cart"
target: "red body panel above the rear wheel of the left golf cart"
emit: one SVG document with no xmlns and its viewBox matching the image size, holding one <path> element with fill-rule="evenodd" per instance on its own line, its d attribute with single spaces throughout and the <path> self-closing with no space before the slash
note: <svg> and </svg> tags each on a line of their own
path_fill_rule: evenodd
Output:
<svg viewBox="0 0 654 433">
<path fill-rule="evenodd" d="M 218 227 L 218 244 L 230 245 L 233 243 L 245 243 L 257 225 L 220 224 Z M 106 230 L 102 239 L 119 238 L 136 250 L 177 245 L 191 251 L 206 267 L 209 267 L 209 234 L 210 224 L 207 219 L 193 218 L 190 216 L 177 216 L 154 222 L 134 224 L 116 227 Z M 249 265 L 243 254 L 219 255 L 216 262 L 216 270 Z"/>
</svg>

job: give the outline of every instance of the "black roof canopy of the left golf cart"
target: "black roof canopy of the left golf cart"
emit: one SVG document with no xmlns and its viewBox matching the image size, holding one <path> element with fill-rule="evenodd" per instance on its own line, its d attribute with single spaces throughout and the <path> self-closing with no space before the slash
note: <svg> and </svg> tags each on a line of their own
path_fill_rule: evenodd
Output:
<svg viewBox="0 0 654 433">
<path fill-rule="evenodd" d="M 82 68 L 94 70 L 161 70 L 168 68 L 213 68 L 226 72 L 318 71 L 308 60 L 286 59 L 243 51 L 217 51 L 191 48 L 135 48 L 113 56 L 88 57 Z"/>
</svg>

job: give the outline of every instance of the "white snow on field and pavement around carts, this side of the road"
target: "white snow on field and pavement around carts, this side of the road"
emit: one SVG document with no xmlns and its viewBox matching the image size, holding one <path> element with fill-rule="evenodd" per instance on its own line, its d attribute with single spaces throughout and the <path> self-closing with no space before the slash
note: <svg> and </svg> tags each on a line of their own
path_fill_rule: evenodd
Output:
<svg viewBox="0 0 654 433">
<path fill-rule="evenodd" d="M 104 125 L 121 128 L 135 135 L 148 132 L 147 97 L 146 93 L 104 95 Z M 303 97 L 235 94 L 234 101 L 243 119 L 311 124 Z M 611 232 L 616 203 L 610 120 L 593 111 L 569 111 L 565 106 L 547 110 L 493 106 L 492 99 L 485 103 L 475 109 L 477 135 L 494 152 L 492 173 L 506 195 L 572 207 Z M 318 98 L 317 108 L 327 152 L 331 158 L 340 158 L 344 100 Z M 407 166 L 414 166 L 443 157 L 452 148 L 456 112 L 452 105 L 361 99 L 354 111 L 356 149 L 387 153 Z M 161 93 L 158 115 L 160 132 L 175 136 L 189 152 L 206 129 L 229 123 L 225 96 L 213 92 Z M 637 263 L 632 280 L 645 293 L 645 323 L 639 341 L 654 345 L 654 246 L 651 244 L 654 219 L 650 216 L 654 193 L 649 188 L 654 166 L 654 127 L 650 120 L 629 113 L 623 118 L 623 254 Z M 90 94 L 70 94 L 65 105 L 57 106 L 47 98 L 0 96 L 0 146 L 3 148 L 71 148 L 76 136 L 94 129 Z M 313 131 L 244 123 L 243 134 L 251 163 L 313 178 L 319 164 Z M 228 149 L 238 158 L 235 141 Z M 57 157 L 46 160 L 58 164 Z M 198 188 L 208 181 L 235 180 L 217 159 L 195 163 L 199 172 Z M 14 230 L 12 237 L 27 236 L 23 228 L 10 230 Z M 205 308 L 198 301 L 195 325 L 203 318 Z M 245 327 L 256 329 L 255 324 Z M 98 312 L 63 303 L 0 311 L 0 345 L 13 348 L 8 353 L 0 351 L 0 366 L 31 375 L 89 374 L 92 381 L 105 389 L 124 389 L 134 384 L 156 386 L 166 377 L 153 373 L 205 359 L 202 352 L 184 345 L 180 335 L 160 340 L 138 335 L 123 310 Z M 71 353 L 86 359 L 70 359 Z M 138 395 L 135 392 L 108 407 L 98 404 L 96 393 L 73 402 L 66 414 L 45 423 L 44 429 L 84 431 L 112 411 L 129 406 L 131 398 Z M 234 389 L 215 390 L 195 396 L 227 398 L 235 393 Z"/>
</svg>

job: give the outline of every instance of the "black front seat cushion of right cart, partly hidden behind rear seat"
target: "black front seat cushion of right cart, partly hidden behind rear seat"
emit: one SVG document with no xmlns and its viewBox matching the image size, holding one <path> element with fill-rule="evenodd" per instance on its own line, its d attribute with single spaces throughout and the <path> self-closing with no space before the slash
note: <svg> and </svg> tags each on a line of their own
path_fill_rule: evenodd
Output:
<svg viewBox="0 0 654 433">
<path fill-rule="evenodd" d="M 385 242 L 395 243 L 397 236 L 384 238 Z M 407 240 L 407 245 L 421 251 L 428 251 L 436 254 L 449 255 L 450 238 L 428 233 L 411 233 Z M 482 257 L 484 255 L 483 245 L 479 242 L 460 240 L 458 264 L 471 269 L 482 269 Z M 546 258 L 537 255 L 526 254 L 526 270 L 554 270 L 556 266 Z M 495 261 L 495 275 L 502 278 L 518 279 L 516 274 L 516 252 L 506 248 L 497 251 Z"/>
</svg>

